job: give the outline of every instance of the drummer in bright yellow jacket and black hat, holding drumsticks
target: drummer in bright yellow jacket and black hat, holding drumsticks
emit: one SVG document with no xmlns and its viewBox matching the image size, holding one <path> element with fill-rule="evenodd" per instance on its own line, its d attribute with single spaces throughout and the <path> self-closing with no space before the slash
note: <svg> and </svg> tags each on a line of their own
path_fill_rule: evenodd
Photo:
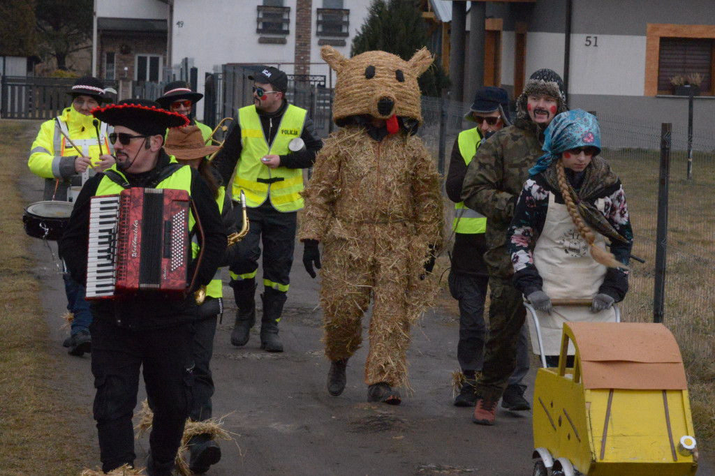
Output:
<svg viewBox="0 0 715 476">
<path fill-rule="evenodd" d="M 89 177 L 114 164 L 107 124 L 94 119 L 89 112 L 103 102 L 112 101 L 109 91 L 114 90 L 105 89 L 97 78 L 80 78 L 67 91 L 72 105 L 42 124 L 27 164 L 33 174 L 45 179 L 44 200 L 71 201 Z M 74 314 L 71 336 L 64 340 L 64 347 L 69 347 L 69 354 L 81 357 L 92 349 L 89 334 L 92 314 L 84 301 L 84 287 L 74 282 L 69 273 L 65 272 L 62 278 L 67 310 Z"/>
</svg>

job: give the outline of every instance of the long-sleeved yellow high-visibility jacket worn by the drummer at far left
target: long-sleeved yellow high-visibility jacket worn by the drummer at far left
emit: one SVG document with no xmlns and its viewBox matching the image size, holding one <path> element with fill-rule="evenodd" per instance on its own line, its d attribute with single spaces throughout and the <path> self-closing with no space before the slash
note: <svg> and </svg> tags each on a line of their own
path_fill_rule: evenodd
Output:
<svg viewBox="0 0 715 476">
<path fill-rule="evenodd" d="M 69 106 L 62 111 L 61 116 L 50 119 L 42 124 L 35 141 L 30 149 L 30 157 L 27 165 L 33 174 L 48 179 L 46 191 L 56 194 L 56 199 L 65 199 L 67 188 L 71 184 L 83 185 L 84 182 L 94 175 L 92 169 L 88 169 L 82 175 L 74 172 L 74 161 L 63 163 L 62 157 L 77 157 L 79 154 L 60 131 L 65 132 L 71 141 L 81 151 L 84 157 L 92 159 L 92 165 L 99 162 L 100 150 L 99 142 L 102 142 L 102 152 L 104 154 L 114 154 L 114 146 L 109 144 L 107 135 L 109 128 L 104 122 L 99 122 L 99 140 L 97 130 L 94 128 L 94 117 L 79 114 L 74 107 Z M 64 167 L 61 165 L 66 164 Z M 59 184 L 56 180 L 59 179 Z M 56 190 L 55 190 L 56 189 Z M 51 197 L 46 197 L 50 199 Z"/>
</svg>

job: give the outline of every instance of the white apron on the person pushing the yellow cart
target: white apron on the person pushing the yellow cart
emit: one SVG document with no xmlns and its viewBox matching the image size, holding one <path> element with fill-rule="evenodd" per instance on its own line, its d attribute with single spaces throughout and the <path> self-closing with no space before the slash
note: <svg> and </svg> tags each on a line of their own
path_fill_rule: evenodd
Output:
<svg viewBox="0 0 715 476">
<path fill-rule="evenodd" d="M 603 235 L 596 230 L 593 230 L 593 234 L 596 235 L 593 246 L 606 249 Z M 548 194 L 546 221 L 534 247 L 533 259 L 543 279 L 543 292 L 551 299 L 593 299 L 606 277 L 606 267 L 591 257 L 588 244 L 578 233 L 566 205 L 557 204 L 553 193 Z M 561 352 L 563 322 L 616 322 L 613 307 L 593 313 L 590 306 L 554 306 L 551 315 L 536 311 L 536 316 L 546 355 L 558 355 Z M 529 334 L 533 352 L 539 354 L 538 337 L 531 322 Z M 574 353 L 573 344 L 569 342 L 568 354 Z"/>
</svg>

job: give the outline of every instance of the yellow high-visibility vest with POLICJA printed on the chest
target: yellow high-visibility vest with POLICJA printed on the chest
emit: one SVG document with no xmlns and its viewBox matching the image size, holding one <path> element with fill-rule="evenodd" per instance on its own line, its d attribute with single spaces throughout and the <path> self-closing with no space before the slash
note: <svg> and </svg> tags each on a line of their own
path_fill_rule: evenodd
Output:
<svg viewBox="0 0 715 476">
<path fill-rule="evenodd" d="M 270 203 L 279 212 L 302 209 L 302 170 L 287 167 L 270 169 L 262 164 L 261 158 L 268 154 L 287 154 L 288 143 L 302 134 L 306 116 L 305 109 L 288 104 L 280 124 L 276 125 L 278 132 L 269 147 L 256 107 L 239 109 L 242 151 L 232 187 L 235 201 L 240 200 L 243 189 L 247 207 L 259 207 L 266 199 L 270 199 Z"/>
</svg>

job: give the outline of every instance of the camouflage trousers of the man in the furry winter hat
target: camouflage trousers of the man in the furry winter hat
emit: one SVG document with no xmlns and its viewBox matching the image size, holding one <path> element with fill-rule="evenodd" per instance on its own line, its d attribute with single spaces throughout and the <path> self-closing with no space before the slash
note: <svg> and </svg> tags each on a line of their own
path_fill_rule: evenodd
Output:
<svg viewBox="0 0 715 476">
<path fill-rule="evenodd" d="M 516 342 L 526 318 L 521 292 L 504 277 L 489 277 L 489 337 L 476 393 L 485 400 L 499 400 L 516 368 Z"/>
</svg>

